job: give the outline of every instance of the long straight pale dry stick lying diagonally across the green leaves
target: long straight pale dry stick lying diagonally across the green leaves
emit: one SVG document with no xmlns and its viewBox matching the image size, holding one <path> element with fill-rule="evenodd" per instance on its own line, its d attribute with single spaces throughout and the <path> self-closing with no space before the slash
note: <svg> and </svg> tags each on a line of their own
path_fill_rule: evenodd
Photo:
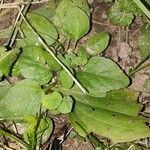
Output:
<svg viewBox="0 0 150 150">
<path fill-rule="evenodd" d="M 62 66 L 62 68 L 68 73 L 68 75 L 72 78 L 72 80 L 77 84 L 77 86 L 81 89 L 83 93 L 86 93 L 87 91 L 82 87 L 82 85 L 79 83 L 79 81 L 74 77 L 74 75 L 70 72 L 70 70 L 59 60 L 53 51 L 55 51 L 53 48 L 49 48 L 47 44 L 43 41 L 43 39 L 40 37 L 40 35 L 34 30 L 34 28 L 30 25 L 30 23 L 26 20 L 24 15 L 21 13 L 22 18 L 26 22 L 26 24 L 29 26 L 29 28 L 33 31 L 33 33 L 37 36 L 38 41 L 42 44 L 42 46 L 47 50 L 49 54 Z"/>
</svg>

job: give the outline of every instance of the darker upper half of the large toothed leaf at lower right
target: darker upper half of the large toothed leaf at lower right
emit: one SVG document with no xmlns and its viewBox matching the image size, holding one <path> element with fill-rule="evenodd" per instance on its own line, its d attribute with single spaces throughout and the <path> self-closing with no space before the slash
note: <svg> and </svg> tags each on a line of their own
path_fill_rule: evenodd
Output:
<svg viewBox="0 0 150 150">
<path fill-rule="evenodd" d="M 65 89 L 57 87 L 55 90 L 64 95 L 72 95 L 78 102 L 90 105 L 92 107 L 100 106 L 103 109 L 117 111 L 130 116 L 137 116 L 141 106 L 136 102 L 138 92 L 129 89 L 119 89 L 108 92 L 105 97 L 93 97 L 89 94 L 83 94 L 79 89 Z"/>
</svg>

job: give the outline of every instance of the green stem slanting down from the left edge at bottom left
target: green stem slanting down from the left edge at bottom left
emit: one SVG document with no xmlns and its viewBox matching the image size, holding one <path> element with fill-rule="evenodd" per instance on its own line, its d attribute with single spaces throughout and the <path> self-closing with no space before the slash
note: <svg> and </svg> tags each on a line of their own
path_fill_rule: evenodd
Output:
<svg viewBox="0 0 150 150">
<path fill-rule="evenodd" d="M 27 147 L 28 144 L 21 140 L 19 137 L 15 136 L 14 134 L 12 133 L 9 133 L 8 131 L 6 130 L 3 130 L 3 129 L 0 129 L 0 134 L 4 135 L 4 136 L 7 136 L 8 138 L 12 139 L 12 140 L 15 140 L 16 142 L 20 143 L 22 146 L 24 147 Z"/>
</svg>

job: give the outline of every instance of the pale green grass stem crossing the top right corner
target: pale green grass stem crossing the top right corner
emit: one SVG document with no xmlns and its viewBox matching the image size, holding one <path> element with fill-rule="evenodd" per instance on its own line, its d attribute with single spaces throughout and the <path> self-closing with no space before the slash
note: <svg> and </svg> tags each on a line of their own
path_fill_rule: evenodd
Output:
<svg viewBox="0 0 150 150">
<path fill-rule="evenodd" d="M 133 1 L 144 12 L 144 14 L 150 19 L 150 11 L 145 7 L 145 5 L 140 0 L 133 0 Z"/>
</svg>

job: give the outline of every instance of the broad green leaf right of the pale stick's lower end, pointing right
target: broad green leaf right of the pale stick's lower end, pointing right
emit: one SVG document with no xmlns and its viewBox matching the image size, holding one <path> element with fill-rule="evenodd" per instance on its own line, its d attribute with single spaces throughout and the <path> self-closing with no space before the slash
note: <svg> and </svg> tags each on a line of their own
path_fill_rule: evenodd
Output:
<svg viewBox="0 0 150 150">
<path fill-rule="evenodd" d="M 77 73 L 77 78 L 92 96 L 105 96 L 107 91 L 120 89 L 129 85 L 129 78 L 112 60 L 93 57 Z"/>
</svg>

